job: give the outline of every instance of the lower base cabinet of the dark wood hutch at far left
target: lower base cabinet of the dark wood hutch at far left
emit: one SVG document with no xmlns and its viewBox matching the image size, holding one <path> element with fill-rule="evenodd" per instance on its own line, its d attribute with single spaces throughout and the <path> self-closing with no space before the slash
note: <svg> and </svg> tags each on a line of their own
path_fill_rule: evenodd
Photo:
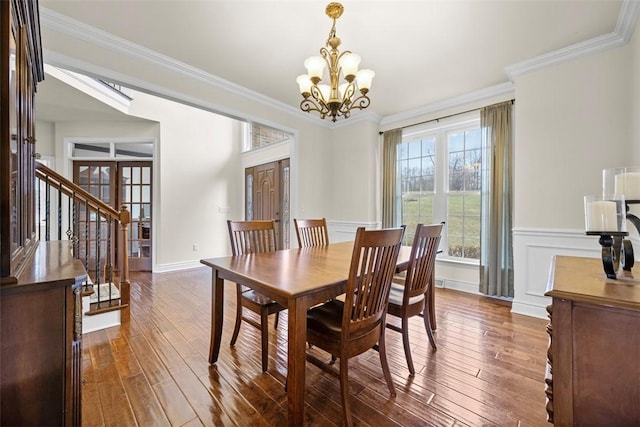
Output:
<svg viewBox="0 0 640 427">
<path fill-rule="evenodd" d="M 56 241 L 0 286 L 0 425 L 81 425 L 85 279 L 71 242 Z"/>
</svg>

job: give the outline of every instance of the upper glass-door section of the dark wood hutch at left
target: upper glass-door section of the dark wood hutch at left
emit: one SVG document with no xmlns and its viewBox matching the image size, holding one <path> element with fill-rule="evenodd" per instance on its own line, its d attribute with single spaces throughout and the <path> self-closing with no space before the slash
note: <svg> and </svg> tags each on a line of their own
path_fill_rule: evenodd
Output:
<svg viewBox="0 0 640 427">
<path fill-rule="evenodd" d="M 0 282 L 35 250 L 36 84 L 44 78 L 38 2 L 0 2 Z"/>
</svg>

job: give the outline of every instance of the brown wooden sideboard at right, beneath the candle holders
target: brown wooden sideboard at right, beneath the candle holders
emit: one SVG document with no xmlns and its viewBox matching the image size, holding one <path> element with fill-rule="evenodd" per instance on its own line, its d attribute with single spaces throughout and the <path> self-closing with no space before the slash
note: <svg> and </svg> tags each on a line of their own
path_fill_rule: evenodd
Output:
<svg viewBox="0 0 640 427">
<path fill-rule="evenodd" d="M 600 259 L 557 256 L 545 295 L 549 422 L 640 426 L 640 280 L 607 279 Z"/>
</svg>

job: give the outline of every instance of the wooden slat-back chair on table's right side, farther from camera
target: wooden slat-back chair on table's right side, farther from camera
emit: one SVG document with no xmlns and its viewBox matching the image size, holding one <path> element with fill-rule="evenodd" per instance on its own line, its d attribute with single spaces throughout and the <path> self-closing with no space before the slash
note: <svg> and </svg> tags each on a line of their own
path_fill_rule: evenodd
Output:
<svg viewBox="0 0 640 427">
<path fill-rule="evenodd" d="M 430 321 L 430 286 L 433 286 L 433 272 L 443 224 L 418 224 L 413 238 L 409 265 L 404 279 L 394 277 L 389 294 L 388 314 L 400 318 L 400 326 L 387 323 L 387 328 L 402 333 L 404 355 L 411 375 L 415 375 L 411 349 L 409 347 L 409 318 L 419 315 L 433 350 L 437 350 Z"/>
</svg>

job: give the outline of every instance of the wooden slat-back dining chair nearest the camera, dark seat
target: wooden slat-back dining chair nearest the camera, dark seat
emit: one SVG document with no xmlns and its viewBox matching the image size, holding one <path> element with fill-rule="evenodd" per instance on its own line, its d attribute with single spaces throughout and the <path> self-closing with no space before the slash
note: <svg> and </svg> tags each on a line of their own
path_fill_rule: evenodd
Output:
<svg viewBox="0 0 640 427">
<path fill-rule="evenodd" d="M 378 346 L 380 364 L 392 396 L 395 388 L 387 363 L 385 316 L 391 279 L 396 269 L 404 228 L 365 230 L 360 227 L 351 255 L 344 302 L 334 299 L 307 312 L 307 341 L 340 359 L 340 394 L 344 424 L 352 425 L 348 360 Z M 310 353 L 307 360 L 337 373 Z"/>
</svg>

